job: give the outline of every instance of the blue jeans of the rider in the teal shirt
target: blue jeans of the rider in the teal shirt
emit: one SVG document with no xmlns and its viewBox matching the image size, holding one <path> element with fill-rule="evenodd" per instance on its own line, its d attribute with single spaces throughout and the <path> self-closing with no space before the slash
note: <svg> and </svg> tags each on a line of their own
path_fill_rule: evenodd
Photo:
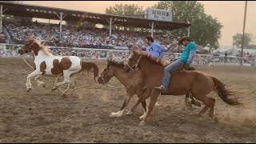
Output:
<svg viewBox="0 0 256 144">
<path fill-rule="evenodd" d="M 178 59 L 178 60 L 176 60 L 176 61 L 170 63 L 169 66 L 166 66 L 165 74 L 164 74 L 164 76 L 163 76 L 163 78 L 162 78 L 162 86 L 164 86 L 165 89 L 167 89 L 168 84 L 169 84 L 169 82 L 170 82 L 170 74 L 171 74 L 174 70 L 176 70 L 176 69 L 182 67 L 183 64 L 184 64 L 184 62 L 183 62 L 182 60 Z"/>
</svg>

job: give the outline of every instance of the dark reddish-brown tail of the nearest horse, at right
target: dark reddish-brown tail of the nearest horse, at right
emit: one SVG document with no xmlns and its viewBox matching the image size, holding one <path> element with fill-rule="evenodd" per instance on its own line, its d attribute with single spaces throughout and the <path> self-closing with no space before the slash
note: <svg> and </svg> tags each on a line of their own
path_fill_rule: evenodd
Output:
<svg viewBox="0 0 256 144">
<path fill-rule="evenodd" d="M 214 80 L 215 92 L 218 94 L 222 100 L 229 105 L 242 105 L 241 102 L 238 102 L 237 98 L 228 98 L 229 96 L 234 96 L 234 90 L 227 90 L 225 85 L 220 82 L 217 78 L 211 77 Z"/>
</svg>

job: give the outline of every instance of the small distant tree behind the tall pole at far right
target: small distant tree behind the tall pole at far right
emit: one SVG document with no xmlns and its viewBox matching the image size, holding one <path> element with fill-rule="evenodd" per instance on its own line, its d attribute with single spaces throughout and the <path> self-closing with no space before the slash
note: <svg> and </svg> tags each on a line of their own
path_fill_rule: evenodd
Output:
<svg viewBox="0 0 256 144">
<path fill-rule="evenodd" d="M 242 47 L 242 34 L 234 34 L 232 36 L 233 38 L 233 42 L 232 45 L 233 46 L 238 46 L 238 48 Z M 243 41 L 243 47 L 248 48 L 250 46 L 250 43 L 253 42 L 253 35 L 249 34 L 249 33 L 245 33 L 245 37 L 244 37 L 244 41 Z"/>
</svg>

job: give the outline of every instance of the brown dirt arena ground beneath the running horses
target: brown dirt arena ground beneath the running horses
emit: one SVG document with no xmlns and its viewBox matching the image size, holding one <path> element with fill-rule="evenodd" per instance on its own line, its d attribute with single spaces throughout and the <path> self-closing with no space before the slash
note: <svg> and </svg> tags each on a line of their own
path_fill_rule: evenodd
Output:
<svg viewBox="0 0 256 144">
<path fill-rule="evenodd" d="M 96 63 L 101 73 L 106 62 Z M 122 106 L 124 89 L 102 86 L 81 75 L 76 86 L 86 87 L 67 98 L 50 90 L 52 77 L 41 78 L 46 88 L 31 79 L 32 90 L 26 92 L 30 67 L 22 59 L 0 58 L 0 142 L 256 142 L 256 67 L 194 67 L 243 93 L 239 96 L 246 108 L 228 106 L 212 92 L 208 96 L 217 99 L 217 120 L 208 111 L 198 118 L 194 114 L 203 105 L 186 107 L 185 95 L 161 96 L 146 126 L 138 126 L 141 105 L 133 115 L 126 115 L 137 96 L 122 117 L 110 118 Z M 110 84 L 121 86 L 116 78 Z"/>
</svg>

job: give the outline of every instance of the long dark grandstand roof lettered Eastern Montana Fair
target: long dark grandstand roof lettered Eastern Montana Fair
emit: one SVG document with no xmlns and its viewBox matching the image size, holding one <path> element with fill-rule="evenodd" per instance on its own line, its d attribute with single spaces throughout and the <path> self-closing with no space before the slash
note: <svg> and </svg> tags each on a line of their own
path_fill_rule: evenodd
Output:
<svg viewBox="0 0 256 144">
<path fill-rule="evenodd" d="M 146 18 L 131 18 L 124 16 L 116 16 L 110 14 L 98 14 L 91 13 L 81 10 L 66 10 L 56 7 L 48 6 L 35 6 L 28 4 L 20 3 L 10 3 L 10 2 L 1 2 L 0 5 L 3 6 L 4 13 L 20 17 L 29 17 L 29 18 L 46 18 L 59 20 L 58 17 L 60 13 L 63 13 L 63 21 L 75 21 L 75 22 L 93 22 L 100 23 L 102 25 L 109 25 L 110 18 L 115 21 L 113 25 L 116 26 L 127 26 L 127 27 L 141 27 L 141 28 L 151 28 L 150 24 L 154 22 L 154 29 L 158 30 L 176 30 L 184 27 L 188 27 L 190 23 L 181 23 L 181 22 L 166 22 L 166 21 L 157 21 Z"/>
</svg>

